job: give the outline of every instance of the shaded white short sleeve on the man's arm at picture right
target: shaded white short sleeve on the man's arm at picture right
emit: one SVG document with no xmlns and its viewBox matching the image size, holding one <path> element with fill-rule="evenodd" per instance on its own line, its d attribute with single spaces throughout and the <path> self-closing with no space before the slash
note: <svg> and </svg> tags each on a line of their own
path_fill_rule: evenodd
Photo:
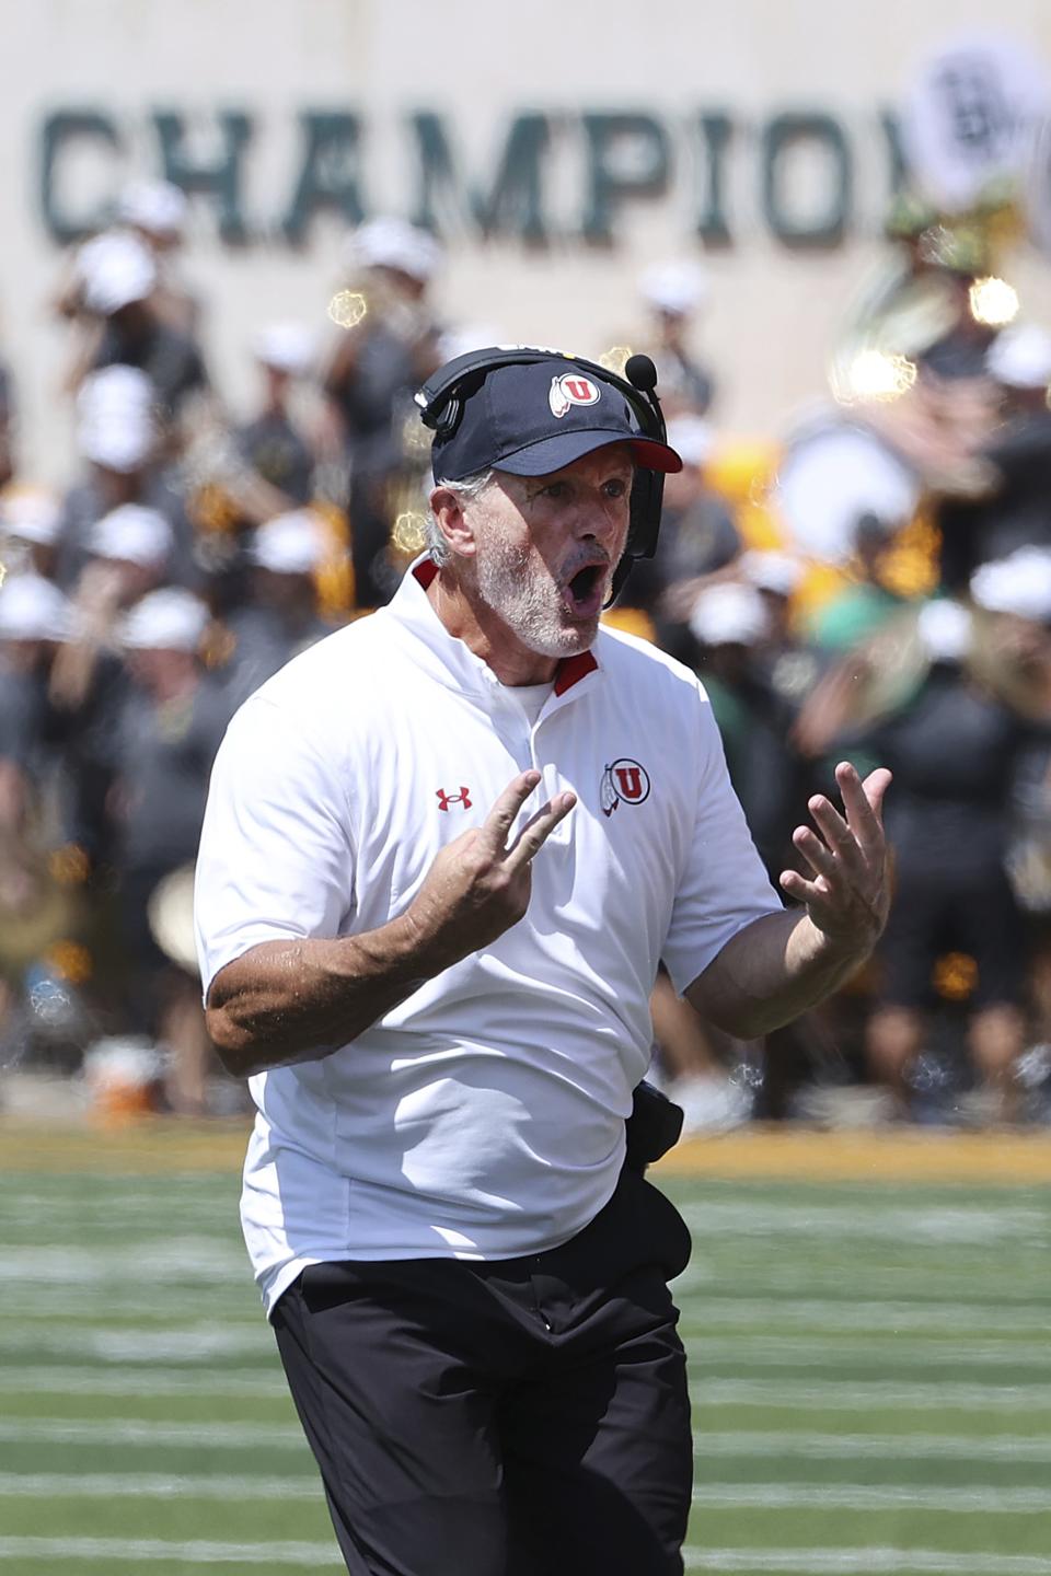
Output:
<svg viewBox="0 0 1051 1576">
<path fill-rule="evenodd" d="M 730 783 L 719 728 L 700 686 L 698 749 L 693 837 L 662 952 L 679 994 L 731 936 L 753 919 L 782 909 Z"/>
</svg>

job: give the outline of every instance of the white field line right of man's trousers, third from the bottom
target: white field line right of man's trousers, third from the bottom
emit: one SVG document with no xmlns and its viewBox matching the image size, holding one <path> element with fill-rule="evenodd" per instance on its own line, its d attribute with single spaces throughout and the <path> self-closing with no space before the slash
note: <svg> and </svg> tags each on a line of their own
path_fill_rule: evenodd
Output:
<svg viewBox="0 0 1051 1576">
<path fill-rule="evenodd" d="M 3 1433 L 0 1433 L 0 1439 Z M 695 1431 L 693 1455 L 712 1461 L 802 1456 L 807 1461 L 1048 1461 L 1051 1436 L 985 1434 L 796 1434 L 789 1428 L 761 1433 Z"/>
</svg>

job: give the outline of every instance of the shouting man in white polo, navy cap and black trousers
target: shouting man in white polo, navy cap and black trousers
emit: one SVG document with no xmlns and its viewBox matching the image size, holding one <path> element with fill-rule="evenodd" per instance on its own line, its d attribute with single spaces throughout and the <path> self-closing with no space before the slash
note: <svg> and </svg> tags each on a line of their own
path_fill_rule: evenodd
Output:
<svg viewBox="0 0 1051 1576">
<path fill-rule="evenodd" d="M 596 369 L 597 370 L 597 369 Z M 244 1229 L 355 1576 L 671 1576 L 690 1504 L 671 1204 L 626 1166 L 663 960 L 758 1034 L 886 914 L 887 774 L 785 914 L 692 673 L 599 632 L 640 437 L 555 353 L 460 389 L 433 547 L 258 690 L 199 862 Z"/>
</svg>

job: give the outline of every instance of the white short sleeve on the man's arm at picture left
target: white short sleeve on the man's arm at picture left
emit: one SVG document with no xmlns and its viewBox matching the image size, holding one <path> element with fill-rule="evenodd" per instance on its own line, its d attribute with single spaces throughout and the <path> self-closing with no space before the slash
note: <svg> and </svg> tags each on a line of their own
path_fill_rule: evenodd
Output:
<svg viewBox="0 0 1051 1576">
<path fill-rule="evenodd" d="M 315 730 L 254 697 L 219 747 L 194 892 L 205 994 L 249 947 L 337 936 L 353 911 L 347 783 Z"/>
</svg>

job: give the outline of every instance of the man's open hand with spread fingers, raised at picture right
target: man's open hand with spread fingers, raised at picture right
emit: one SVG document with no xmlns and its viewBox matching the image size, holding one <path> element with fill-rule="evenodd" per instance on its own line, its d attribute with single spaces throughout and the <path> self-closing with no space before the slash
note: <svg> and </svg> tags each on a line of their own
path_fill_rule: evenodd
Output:
<svg viewBox="0 0 1051 1576">
<path fill-rule="evenodd" d="M 848 952 L 867 953 L 879 938 L 890 908 L 887 843 L 882 831 L 882 799 L 890 772 L 879 768 L 865 782 L 848 761 L 840 761 L 835 780 L 845 815 L 815 794 L 808 810 L 818 832 L 797 826 L 793 843 L 813 878 L 786 870 L 782 887 L 807 906 L 811 924 Z"/>
</svg>

